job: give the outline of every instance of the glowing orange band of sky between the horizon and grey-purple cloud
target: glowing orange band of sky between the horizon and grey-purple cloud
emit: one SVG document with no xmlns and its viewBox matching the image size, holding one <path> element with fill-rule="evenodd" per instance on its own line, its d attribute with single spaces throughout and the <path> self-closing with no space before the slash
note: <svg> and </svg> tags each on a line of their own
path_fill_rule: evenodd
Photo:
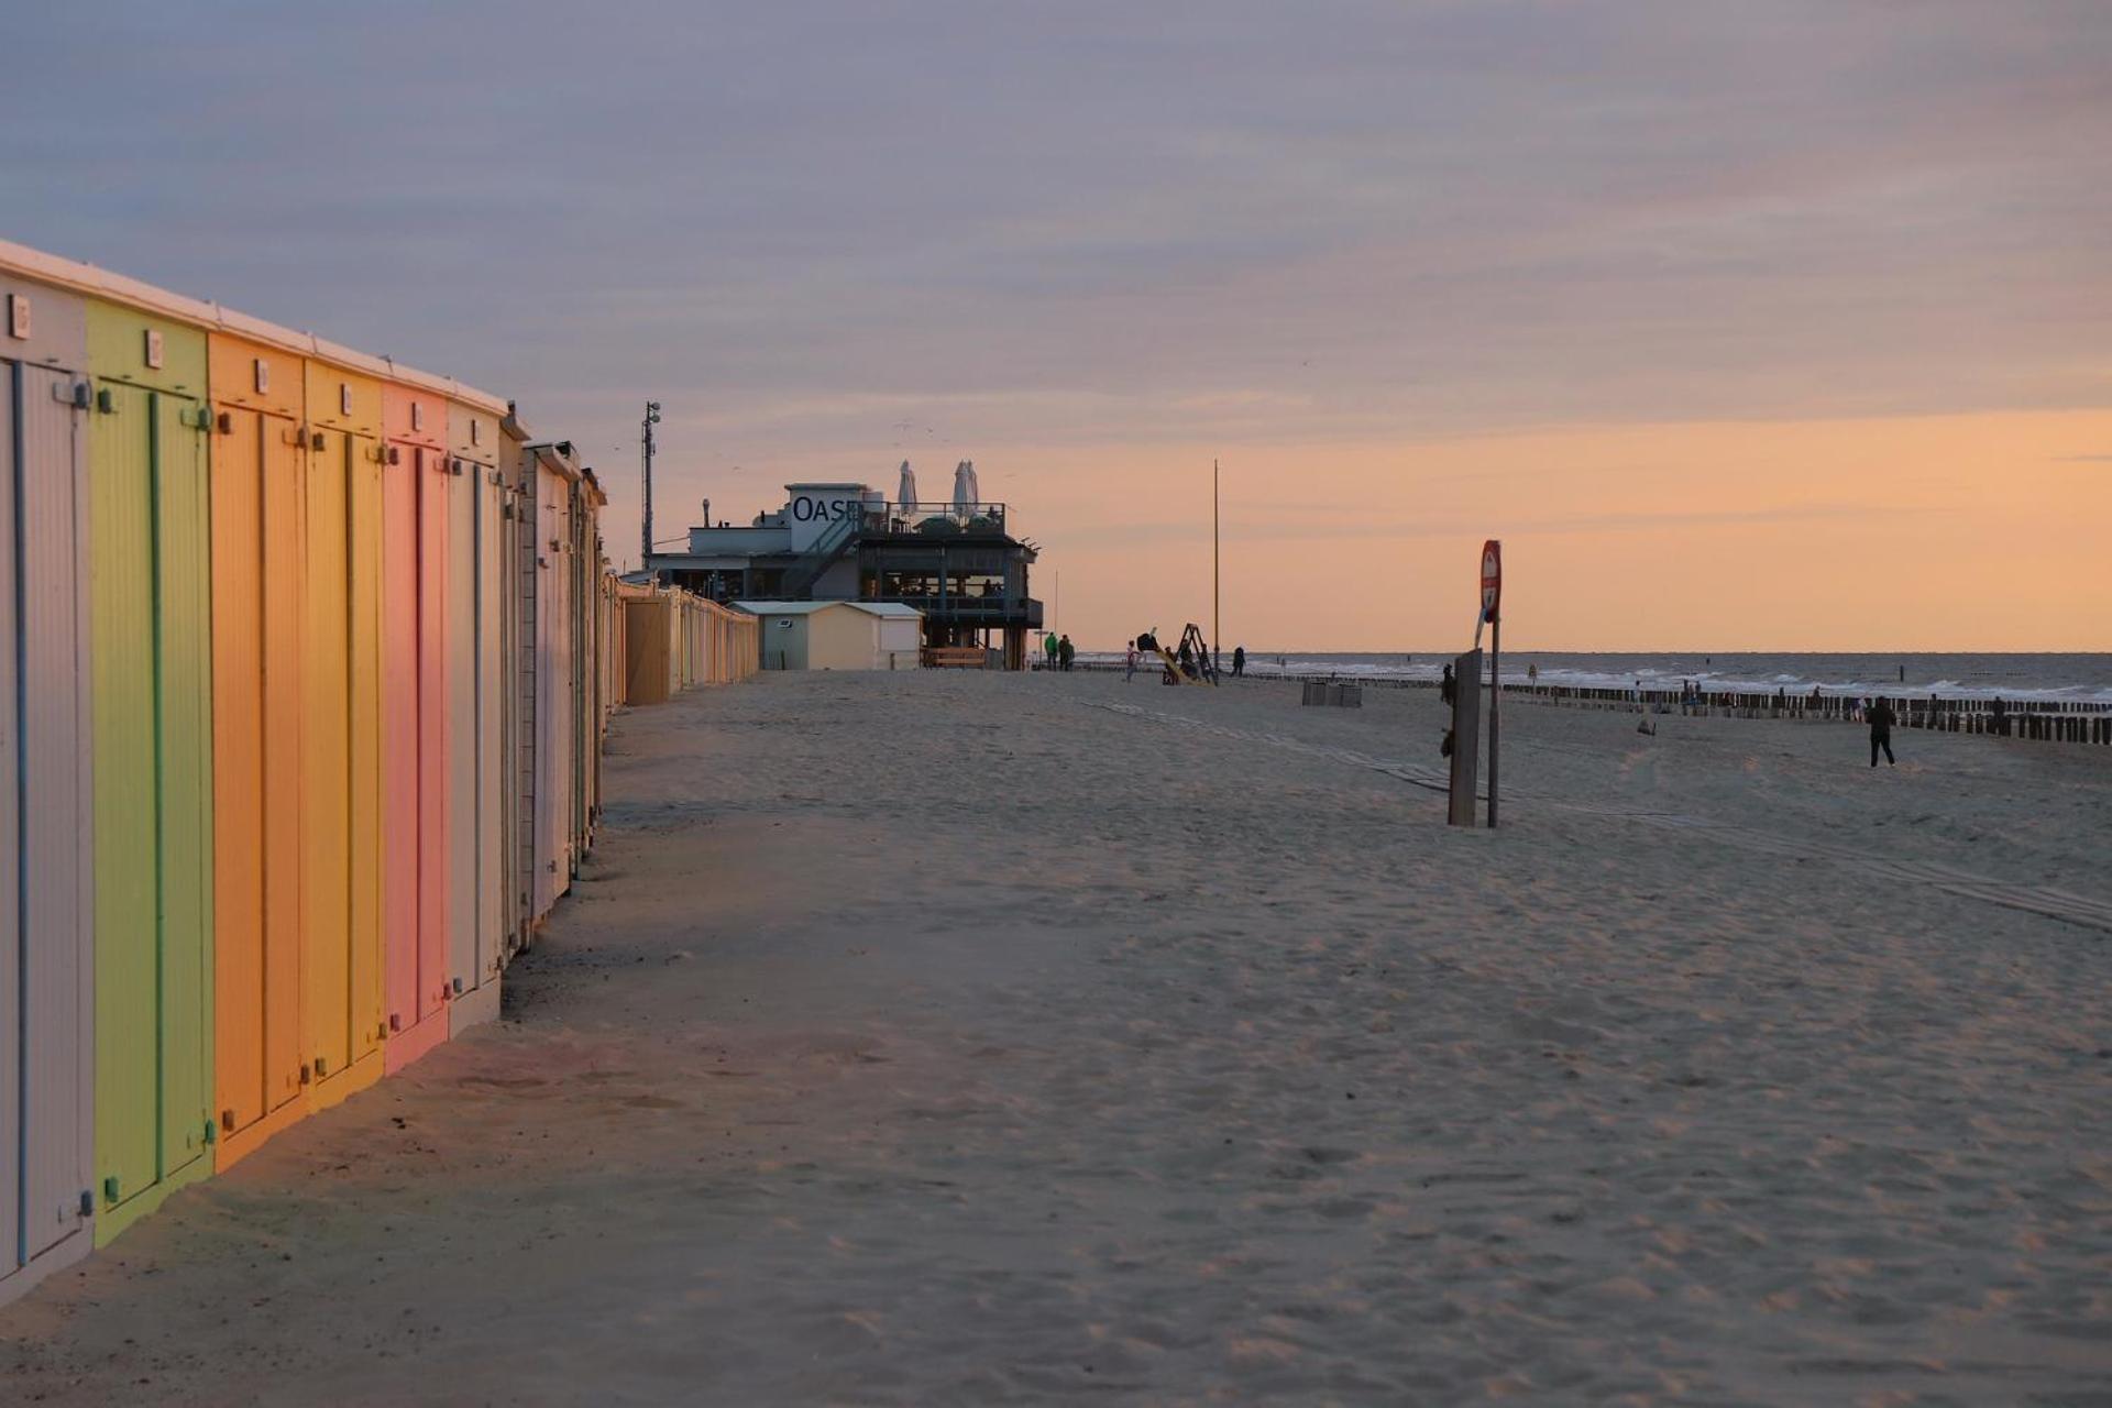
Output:
<svg viewBox="0 0 2112 1408">
<path fill-rule="evenodd" d="M 1052 458 L 1022 521 L 1064 545 L 1060 625 L 1208 627 L 1208 450 Z M 1238 452 L 1225 642 L 1464 648 L 1485 536 L 1516 650 L 2112 650 L 2112 412 Z"/>
</svg>

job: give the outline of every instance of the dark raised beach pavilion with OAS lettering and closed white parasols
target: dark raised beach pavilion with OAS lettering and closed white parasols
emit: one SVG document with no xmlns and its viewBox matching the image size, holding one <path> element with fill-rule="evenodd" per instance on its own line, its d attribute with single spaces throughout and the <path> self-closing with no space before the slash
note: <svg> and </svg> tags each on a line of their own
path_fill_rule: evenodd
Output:
<svg viewBox="0 0 2112 1408">
<path fill-rule="evenodd" d="M 957 490 L 974 488 L 963 464 Z M 904 488 L 912 479 L 904 475 Z M 1041 627 L 1041 602 L 1026 572 L 1037 547 L 1012 534 L 1005 505 L 957 492 L 950 502 L 893 500 L 864 483 L 788 483 L 781 509 L 752 524 L 689 530 L 686 553 L 653 553 L 646 572 L 714 602 L 860 602 L 904 606 L 923 646 L 1001 648 L 1005 669 L 1024 669 L 1026 638 Z M 762 612 L 758 612 L 762 614 Z M 788 612 L 779 612 L 786 616 Z M 779 638 L 803 627 L 762 625 L 765 669 Z M 809 640 L 811 640 L 811 627 Z M 824 633 L 836 629 L 830 621 Z M 900 629 L 900 627 L 898 627 Z M 885 669 L 885 665 L 881 665 Z"/>
</svg>

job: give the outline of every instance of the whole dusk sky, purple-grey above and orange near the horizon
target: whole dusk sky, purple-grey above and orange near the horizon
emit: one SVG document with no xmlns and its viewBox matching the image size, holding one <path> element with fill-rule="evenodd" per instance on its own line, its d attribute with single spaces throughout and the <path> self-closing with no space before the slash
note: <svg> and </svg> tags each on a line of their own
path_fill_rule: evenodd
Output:
<svg viewBox="0 0 2112 1408">
<path fill-rule="evenodd" d="M 638 557 L 974 458 L 1088 646 L 2112 648 L 2112 6 L 13 13 L 0 236 L 517 397 Z"/>
</svg>

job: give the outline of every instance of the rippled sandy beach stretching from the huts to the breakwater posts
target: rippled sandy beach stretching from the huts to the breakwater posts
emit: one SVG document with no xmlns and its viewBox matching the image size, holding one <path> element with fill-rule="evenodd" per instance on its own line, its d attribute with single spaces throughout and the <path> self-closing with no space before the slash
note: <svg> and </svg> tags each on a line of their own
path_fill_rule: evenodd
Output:
<svg viewBox="0 0 2112 1408">
<path fill-rule="evenodd" d="M 2106 1404 L 2112 749 L 1119 676 L 617 720 L 505 1020 L 0 1311 L 38 1404 Z"/>
</svg>

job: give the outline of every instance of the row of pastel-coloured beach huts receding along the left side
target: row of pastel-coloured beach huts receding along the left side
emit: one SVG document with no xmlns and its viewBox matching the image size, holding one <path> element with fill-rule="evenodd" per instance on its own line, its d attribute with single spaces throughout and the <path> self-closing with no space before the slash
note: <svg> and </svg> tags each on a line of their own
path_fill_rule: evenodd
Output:
<svg viewBox="0 0 2112 1408">
<path fill-rule="evenodd" d="M 0 243 L 0 1300 L 498 1011 L 756 669 L 509 401 Z"/>
</svg>

